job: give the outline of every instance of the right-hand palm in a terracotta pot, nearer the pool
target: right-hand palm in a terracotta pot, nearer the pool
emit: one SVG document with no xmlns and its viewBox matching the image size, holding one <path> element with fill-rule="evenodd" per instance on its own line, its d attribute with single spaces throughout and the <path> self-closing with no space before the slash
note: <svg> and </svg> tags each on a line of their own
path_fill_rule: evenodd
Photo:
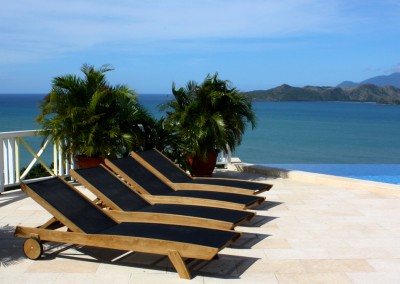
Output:
<svg viewBox="0 0 400 284">
<path fill-rule="evenodd" d="M 218 73 L 207 75 L 201 84 L 189 81 L 179 89 L 173 84 L 172 94 L 174 99 L 163 109 L 166 124 L 181 141 L 180 156 L 188 159 L 192 175 L 209 176 L 218 151 L 234 151 L 247 124 L 255 128 L 251 100 L 228 80 L 219 79 Z"/>
</svg>

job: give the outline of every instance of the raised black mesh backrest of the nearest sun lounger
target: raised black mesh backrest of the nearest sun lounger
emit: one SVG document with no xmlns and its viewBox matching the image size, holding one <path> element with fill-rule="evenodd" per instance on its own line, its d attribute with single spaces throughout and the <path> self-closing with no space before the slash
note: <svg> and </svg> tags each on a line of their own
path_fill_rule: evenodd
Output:
<svg viewBox="0 0 400 284">
<path fill-rule="evenodd" d="M 61 214 L 61 216 L 54 217 L 58 220 L 63 219 L 63 217 L 67 218 L 85 233 L 96 233 L 116 224 L 96 205 L 86 200 L 57 177 L 27 182 L 25 185 Z M 39 201 L 38 203 L 41 204 Z M 54 212 L 50 213 L 54 214 Z"/>
</svg>

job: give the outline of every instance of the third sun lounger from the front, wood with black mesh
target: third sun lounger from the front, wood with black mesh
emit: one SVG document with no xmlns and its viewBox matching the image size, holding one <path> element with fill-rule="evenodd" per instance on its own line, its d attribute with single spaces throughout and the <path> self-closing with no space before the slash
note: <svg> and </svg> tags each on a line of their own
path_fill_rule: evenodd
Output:
<svg viewBox="0 0 400 284">
<path fill-rule="evenodd" d="M 261 204 L 265 197 L 206 190 L 175 190 L 132 157 L 105 160 L 133 189 L 154 203 L 179 203 L 230 209 L 247 209 Z"/>
</svg>

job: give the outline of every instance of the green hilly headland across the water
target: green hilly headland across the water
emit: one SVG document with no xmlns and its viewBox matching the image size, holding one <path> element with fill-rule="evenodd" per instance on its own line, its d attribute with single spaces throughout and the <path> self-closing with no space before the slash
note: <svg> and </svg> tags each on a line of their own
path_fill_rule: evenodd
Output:
<svg viewBox="0 0 400 284">
<path fill-rule="evenodd" d="M 400 88 L 361 85 L 354 87 L 315 87 L 303 88 L 282 85 L 269 90 L 246 92 L 253 101 L 340 101 L 376 102 L 381 104 L 400 104 Z"/>
</svg>

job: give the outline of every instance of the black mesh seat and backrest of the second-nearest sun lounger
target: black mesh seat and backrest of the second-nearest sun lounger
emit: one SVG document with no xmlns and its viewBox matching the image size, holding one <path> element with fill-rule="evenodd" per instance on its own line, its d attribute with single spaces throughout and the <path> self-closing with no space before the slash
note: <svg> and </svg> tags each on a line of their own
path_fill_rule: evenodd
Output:
<svg viewBox="0 0 400 284">
<path fill-rule="evenodd" d="M 98 197 L 112 209 L 127 212 L 136 211 L 192 216 L 229 222 L 232 225 L 240 224 L 254 216 L 254 213 L 242 210 L 181 204 L 150 204 L 102 166 L 77 169 L 71 171 L 71 175 L 89 190 L 92 190 L 94 194 L 98 195 L 98 192 L 101 192 L 102 196 Z"/>
</svg>

